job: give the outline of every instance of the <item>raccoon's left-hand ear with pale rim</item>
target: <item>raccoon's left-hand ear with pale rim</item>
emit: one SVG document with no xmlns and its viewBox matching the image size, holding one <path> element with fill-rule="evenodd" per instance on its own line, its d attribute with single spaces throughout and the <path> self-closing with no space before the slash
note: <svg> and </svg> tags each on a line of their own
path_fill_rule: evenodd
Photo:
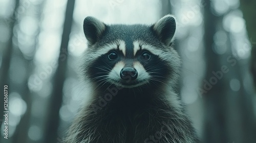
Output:
<svg viewBox="0 0 256 143">
<path fill-rule="evenodd" d="M 89 42 L 89 45 L 99 41 L 106 25 L 95 17 L 88 16 L 83 20 L 83 32 Z"/>
</svg>

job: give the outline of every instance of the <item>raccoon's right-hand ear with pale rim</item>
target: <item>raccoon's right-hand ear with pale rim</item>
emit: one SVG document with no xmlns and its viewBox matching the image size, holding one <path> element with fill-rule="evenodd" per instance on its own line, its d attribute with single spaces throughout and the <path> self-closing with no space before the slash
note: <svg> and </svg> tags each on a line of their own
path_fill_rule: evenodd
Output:
<svg viewBox="0 0 256 143">
<path fill-rule="evenodd" d="M 174 34 L 176 31 L 175 17 L 168 14 L 162 17 L 153 25 L 153 30 L 156 32 L 159 39 L 167 46 L 169 46 L 174 40 Z"/>
</svg>

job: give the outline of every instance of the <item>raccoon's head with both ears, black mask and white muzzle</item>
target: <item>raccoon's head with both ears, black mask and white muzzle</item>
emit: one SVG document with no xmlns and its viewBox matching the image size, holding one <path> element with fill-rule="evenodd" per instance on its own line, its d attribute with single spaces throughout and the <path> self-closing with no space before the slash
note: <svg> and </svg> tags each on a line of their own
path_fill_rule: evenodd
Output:
<svg viewBox="0 0 256 143">
<path fill-rule="evenodd" d="M 180 59 L 172 48 L 176 30 L 172 15 L 150 26 L 106 25 L 86 17 L 83 30 L 88 49 L 82 73 L 97 86 L 161 86 L 177 80 Z"/>
</svg>

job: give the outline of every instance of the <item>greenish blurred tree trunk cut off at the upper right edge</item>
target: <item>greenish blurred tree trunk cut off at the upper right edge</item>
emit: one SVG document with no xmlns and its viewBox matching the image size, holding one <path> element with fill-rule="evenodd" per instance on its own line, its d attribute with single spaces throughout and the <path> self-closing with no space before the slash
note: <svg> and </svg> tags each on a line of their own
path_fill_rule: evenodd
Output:
<svg viewBox="0 0 256 143">
<path fill-rule="evenodd" d="M 246 29 L 251 49 L 251 73 L 253 76 L 254 87 L 256 89 L 256 1 L 255 0 L 240 0 L 240 7 L 243 11 L 243 17 L 246 22 Z"/>
</svg>

